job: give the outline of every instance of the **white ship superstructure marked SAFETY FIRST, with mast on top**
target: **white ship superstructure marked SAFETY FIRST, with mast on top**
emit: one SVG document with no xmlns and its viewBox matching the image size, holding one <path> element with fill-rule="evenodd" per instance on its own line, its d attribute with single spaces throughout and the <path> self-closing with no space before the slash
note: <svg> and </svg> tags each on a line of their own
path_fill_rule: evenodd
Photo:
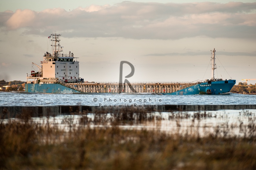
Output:
<svg viewBox="0 0 256 170">
<path fill-rule="evenodd" d="M 43 56 L 38 72 L 27 76 L 27 83 L 55 83 L 58 80 L 65 82 L 77 82 L 79 78 L 79 61 L 75 61 L 74 54 L 69 51 L 69 54 L 63 54 L 63 50 L 59 44 L 60 34 L 51 34 L 52 51 L 46 52 Z M 49 38 L 50 38 L 49 37 Z M 28 81 L 28 79 L 34 79 Z"/>
</svg>

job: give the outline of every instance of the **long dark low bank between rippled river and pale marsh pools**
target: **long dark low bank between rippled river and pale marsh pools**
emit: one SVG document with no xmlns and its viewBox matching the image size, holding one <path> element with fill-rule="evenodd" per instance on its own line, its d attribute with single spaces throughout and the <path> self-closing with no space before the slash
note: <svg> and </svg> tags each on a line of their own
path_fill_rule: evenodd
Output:
<svg viewBox="0 0 256 170">
<path fill-rule="evenodd" d="M 133 106 L 126 106 L 133 108 Z M 99 110 L 107 110 L 99 106 L 0 106 L 0 118 L 17 117 L 19 114 L 28 114 L 31 117 L 57 116 L 66 114 L 81 114 L 83 112 L 94 113 Z M 136 110 L 137 108 L 134 108 Z M 142 109 L 142 108 L 140 108 Z M 157 105 L 156 108 L 143 108 L 148 112 L 173 112 L 173 111 L 215 111 L 215 110 L 244 110 L 256 109 L 256 104 L 243 105 Z M 112 109 L 118 110 L 118 108 Z M 109 109 L 111 112 L 111 110 Z"/>
</svg>

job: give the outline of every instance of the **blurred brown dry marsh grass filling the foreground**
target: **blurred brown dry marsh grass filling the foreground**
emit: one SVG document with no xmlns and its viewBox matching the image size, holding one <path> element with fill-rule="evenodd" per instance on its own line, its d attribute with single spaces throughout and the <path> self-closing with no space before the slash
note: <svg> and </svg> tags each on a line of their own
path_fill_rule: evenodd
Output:
<svg viewBox="0 0 256 170">
<path fill-rule="evenodd" d="M 67 116 L 61 122 L 65 128 L 49 117 L 34 121 L 24 112 L 0 122 L 0 169 L 256 169 L 255 115 L 242 115 L 249 120 L 238 125 L 245 135 L 223 135 L 232 128 L 228 125 L 200 137 L 197 132 L 119 126 L 162 120 L 143 110 L 84 113 L 78 122 Z M 207 116 L 212 115 L 170 113 L 169 119 L 195 121 Z"/>
</svg>

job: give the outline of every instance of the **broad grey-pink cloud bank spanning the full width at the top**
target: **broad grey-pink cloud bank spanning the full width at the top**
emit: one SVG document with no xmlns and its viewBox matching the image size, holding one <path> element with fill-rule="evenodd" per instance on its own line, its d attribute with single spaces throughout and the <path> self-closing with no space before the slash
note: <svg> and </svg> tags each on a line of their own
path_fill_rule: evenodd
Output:
<svg viewBox="0 0 256 170">
<path fill-rule="evenodd" d="M 3 30 L 63 37 L 180 39 L 186 37 L 256 38 L 256 3 L 135 3 L 91 5 L 66 11 L 17 10 L 0 13 Z"/>
</svg>

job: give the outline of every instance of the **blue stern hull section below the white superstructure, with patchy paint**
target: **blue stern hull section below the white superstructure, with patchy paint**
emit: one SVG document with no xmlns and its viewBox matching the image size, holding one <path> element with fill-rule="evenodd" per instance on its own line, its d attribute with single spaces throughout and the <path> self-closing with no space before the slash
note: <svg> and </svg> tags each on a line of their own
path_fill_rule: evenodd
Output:
<svg viewBox="0 0 256 170">
<path fill-rule="evenodd" d="M 29 93 L 80 93 L 61 84 L 25 84 L 25 89 Z"/>
</svg>

